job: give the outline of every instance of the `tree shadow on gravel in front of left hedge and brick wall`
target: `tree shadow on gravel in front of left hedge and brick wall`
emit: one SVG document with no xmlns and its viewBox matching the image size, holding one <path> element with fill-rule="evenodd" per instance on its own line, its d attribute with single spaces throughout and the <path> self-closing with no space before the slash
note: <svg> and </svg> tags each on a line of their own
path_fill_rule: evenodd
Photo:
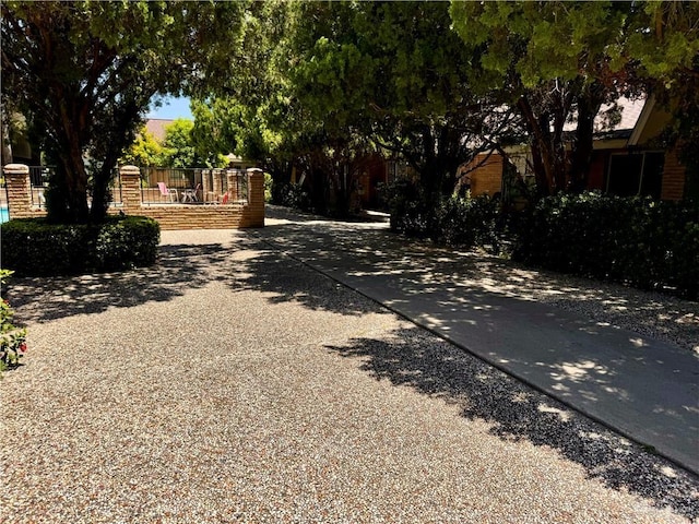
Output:
<svg viewBox="0 0 699 524">
<path fill-rule="evenodd" d="M 271 303 L 289 300 L 311 310 L 363 314 L 376 305 L 358 294 L 337 294 L 342 286 L 249 231 L 232 243 L 162 245 L 150 267 L 119 273 L 64 277 L 13 277 L 4 289 L 19 323 L 49 322 L 92 314 L 110 307 L 130 308 L 168 301 L 188 289 L 224 282 L 234 293 L 257 290 Z"/>
</svg>

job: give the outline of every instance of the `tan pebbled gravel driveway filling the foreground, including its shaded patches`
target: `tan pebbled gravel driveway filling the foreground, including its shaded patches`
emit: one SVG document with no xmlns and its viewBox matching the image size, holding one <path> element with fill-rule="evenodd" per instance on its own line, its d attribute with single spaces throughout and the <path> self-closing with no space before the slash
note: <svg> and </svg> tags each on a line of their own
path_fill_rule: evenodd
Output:
<svg viewBox="0 0 699 524">
<path fill-rule="evenodd" d="M 15 279 L 0 522 L 663 523 L 699 480 L 257 234 Z"/>
</svg>

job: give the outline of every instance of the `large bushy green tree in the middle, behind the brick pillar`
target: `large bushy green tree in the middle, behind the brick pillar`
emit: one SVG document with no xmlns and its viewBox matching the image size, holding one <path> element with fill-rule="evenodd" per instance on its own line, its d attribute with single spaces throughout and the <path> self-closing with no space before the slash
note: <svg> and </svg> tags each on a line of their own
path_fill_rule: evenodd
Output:
<svg viewBox="0 0 699 524">
<path fill-rule="evenodd" d="M 469 88 L 471 58 L 449 28 L 448 4 L 264 2 L 264 9 L 265 16 L 284 14 L 254 33 L 266 45 L 250 56 L 260 48 L 268 55 L 249 62 L 270 64 L 264 81 L 249 92 L 230 90 L 237 95 L 227 103 L 239 104 L 237 118 L 250 123 L 238 124 L 238 144 L 263 156 L 275 181 L 287 179 L 293 162 L 311 180 L 319 206 L 335 194 L 333 205 L 346 210 L 360 158 L 377 150 L 407 158 L 430 193 L 450 193 L 457 167 L 511 123 L 496 100 Z"/>
</svg>

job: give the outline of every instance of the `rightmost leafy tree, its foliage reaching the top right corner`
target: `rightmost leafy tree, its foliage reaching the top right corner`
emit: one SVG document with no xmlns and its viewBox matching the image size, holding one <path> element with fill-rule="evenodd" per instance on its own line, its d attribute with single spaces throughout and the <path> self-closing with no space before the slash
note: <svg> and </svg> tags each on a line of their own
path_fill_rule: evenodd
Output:
<svg viewBox="0 0 699 524">
<path fill-rule="evenodd" d="M 584 187 L 602 104 L 694 70 L 696 13 L 688 2 L 451 3 L 454 29 L 484 50 L 481 91 L 500 92 L 525 122 L 543 194 Z"/>
</svg>

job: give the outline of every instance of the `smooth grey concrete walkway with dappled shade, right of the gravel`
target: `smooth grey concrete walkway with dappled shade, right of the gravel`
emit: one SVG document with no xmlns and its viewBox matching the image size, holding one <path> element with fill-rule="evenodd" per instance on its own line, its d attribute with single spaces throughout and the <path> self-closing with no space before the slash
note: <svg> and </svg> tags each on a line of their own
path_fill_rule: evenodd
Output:
<svg viewBox="0 0 699 524">
<path fill-rule="evenodd" d="M 699 358 L 474 282 L 459 255 L 272 209 L 259 234 L 291 257 L 699 473 Z"/>
</svg>

